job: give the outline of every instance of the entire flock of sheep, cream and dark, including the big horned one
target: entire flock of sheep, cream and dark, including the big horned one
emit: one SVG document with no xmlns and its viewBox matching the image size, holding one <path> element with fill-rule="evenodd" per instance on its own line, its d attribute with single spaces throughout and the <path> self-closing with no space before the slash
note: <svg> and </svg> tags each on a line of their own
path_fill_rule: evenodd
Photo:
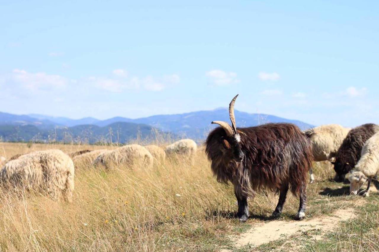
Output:
<svg viewBox="0 0 379 252">
<path fill-rule="evenodd" d="M 238 95 L 237 95 L 238 96 Z M 236 213 L 240 221 L 249 217 L 247 198 L 261 188 L 279 192 L 279 202 L 273 216 L 279 216 L 290 190 L 299 196 L 296 219 L 305 216 L 308 172 L 314 181 L 312 161 L 330 161 L 336 172 L 335 180 L 348 175 L 350 192 L 357 194 L 379 171 L 379 125 L 364 124 L 344 128 L 337 124 L 322 125 L 301 131 L 286 123 L 264 124 L 236 128 L 235 96 L 229 104 L 232 125 L 213 121 L 215 128 L 205 141 L 205 153 L 211 170 L 219 182 L 232 182 L 238 202 Z M 45 150 L 17 155 L 9 160 L 0 157 L 0 183 L 4 188 L 39 190 L 58 200 L 61 195 L 72 201 L 75 167 L 80 163 L 111 169 L 119 164 L 151 167 L 168 158 L 193 161 L 196 143 L 183 139 L 164 150 L 155 145 L 125 145 L 114 150 L 81 150 L 65 154 L 60 150 Z M 3 164 L 2 164 L 3 163 Z"/>
</svg>

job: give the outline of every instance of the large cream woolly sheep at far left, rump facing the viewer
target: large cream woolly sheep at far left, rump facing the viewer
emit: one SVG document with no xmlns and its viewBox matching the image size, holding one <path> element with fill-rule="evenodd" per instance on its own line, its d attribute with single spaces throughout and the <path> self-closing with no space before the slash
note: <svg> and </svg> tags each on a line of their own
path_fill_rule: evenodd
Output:
<svg viewBox="0 0 379 252">
<path fill-rule="evenodd" d="M 0 170 L 0 181 L 7 187 L 25 186 L 42 190 L 52 199 L 71 202 L 74 190 L 74 163 L 60 150 L 32 152 L 7 162 Z"/>
</svg>

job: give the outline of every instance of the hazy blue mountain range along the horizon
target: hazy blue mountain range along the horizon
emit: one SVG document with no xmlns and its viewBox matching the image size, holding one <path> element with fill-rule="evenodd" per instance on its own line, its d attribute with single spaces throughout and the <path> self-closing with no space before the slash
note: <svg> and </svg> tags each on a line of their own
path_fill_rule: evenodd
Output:
<svg viewBox="0 0 379 252">
<path fill-rule="evenodd" d="M 250 114 L 235 110 L 237 127 L 249 127 L 267 122 L 289 122 L 301 129 L 313 125 L 268 114 Z M 183 114 L 156 115 L 138 119 L 113 117 L 99 120 L 93 117 L 70 119 L 41 114 L 16 115 L 0 112 L 0 138 L 3 141 L 83 141 L 130 142 L 157 138 L 193 138 L 203 140 L 215 127 L 214 120 L 229 122 L 226 108 Z M 117 136 L 116 136 L 117 135 Z M 112 140 L 111 140 L 112 138 Z"/>
</svg>

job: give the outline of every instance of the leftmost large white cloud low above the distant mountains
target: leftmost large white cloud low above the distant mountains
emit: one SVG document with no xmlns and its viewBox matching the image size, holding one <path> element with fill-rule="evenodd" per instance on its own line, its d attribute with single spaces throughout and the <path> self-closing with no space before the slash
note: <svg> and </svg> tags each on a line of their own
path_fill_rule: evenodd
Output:
<svg viewBox="0 0 379 252">
<path fill-rule="evenodd" d="M 10 79 L 31 91 L 64 88 L 67 84 L 67 80 L 60 75 L 44 72 L 28 73 L 19 69 L 13 70 Z"/>
</svg>

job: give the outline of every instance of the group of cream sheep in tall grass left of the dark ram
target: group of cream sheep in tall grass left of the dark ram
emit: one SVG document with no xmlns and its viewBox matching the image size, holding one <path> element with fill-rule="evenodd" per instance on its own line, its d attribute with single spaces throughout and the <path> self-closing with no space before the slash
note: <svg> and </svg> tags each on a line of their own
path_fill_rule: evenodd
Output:
<svg viewBox="0 0 379 252">
<path fill-rule="evenodd" d="M 34 190 L 58 200 L 61 196 L 72 202 L 74 173 L 78 164 L 102 166 L 112 165 L 151 167 L 153 162 L 170 159 L 193 161 L 196 142 L 182 139 L 168 145 L 165 150 L 156 145 L 125 145 L 114 150 L 81 150 L 63 153 L 61 150 L 45 150 L 16 155 L 10 159 L 0 157 L 0 183 L 5 189 Z"/>
</svg>

